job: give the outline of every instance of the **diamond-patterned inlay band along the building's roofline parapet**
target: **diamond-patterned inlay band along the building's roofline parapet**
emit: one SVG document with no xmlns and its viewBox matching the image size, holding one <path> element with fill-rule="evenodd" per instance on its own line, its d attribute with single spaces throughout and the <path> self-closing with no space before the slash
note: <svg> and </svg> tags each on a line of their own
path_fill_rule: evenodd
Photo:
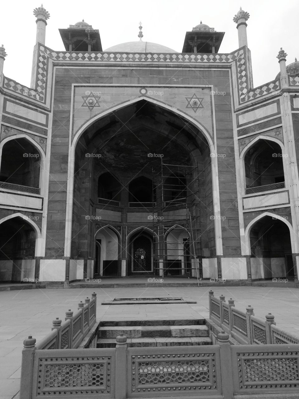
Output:
<svg viewBox="0 0 299 399">
<path fill-rule="evenodd" d="M 219 54 L 179 54 L 179 53 L 84 53 L 84 52 L 56 52 L 39 44 L 37 53 L 37 82 L 36 89 L 30 89 L 20 83 L 4 77 L 3 87 L 6 90 L 25 96 L 35 101 L 45 103 L 47 74 L 49 59 L 53 61 L 97 61 L 97 62 L 154 62 L 154 63 L 236 63 L 239 103 L 251 101 L 258 97 L 268 95 L 280 88 L 280 81 L 271 81 L 266 85 L 252 89 L 252 71 L 248 70 L 247 57 L 249 52 L 246 47 L 238 49 L 234 53 Z M 88 104 L 86 105 L 88 107 Z M 195 110 L 196 111 L 196 110 Z"/>
</svg>

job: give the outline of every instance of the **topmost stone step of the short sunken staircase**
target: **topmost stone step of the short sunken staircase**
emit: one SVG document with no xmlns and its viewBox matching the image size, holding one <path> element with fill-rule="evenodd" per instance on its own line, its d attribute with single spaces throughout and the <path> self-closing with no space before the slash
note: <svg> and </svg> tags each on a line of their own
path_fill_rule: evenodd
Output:
<svg viewBox="0 0 299 399">
<path fill-rule="evenodd" d="M 205 318 L 184 318 L 184 319 L 147 319 L 147 320 L 105 320 L 100 321 L 100 327 L 124 327 L 124 326 L 202 326 L 206 324 Z"/>
</svg>

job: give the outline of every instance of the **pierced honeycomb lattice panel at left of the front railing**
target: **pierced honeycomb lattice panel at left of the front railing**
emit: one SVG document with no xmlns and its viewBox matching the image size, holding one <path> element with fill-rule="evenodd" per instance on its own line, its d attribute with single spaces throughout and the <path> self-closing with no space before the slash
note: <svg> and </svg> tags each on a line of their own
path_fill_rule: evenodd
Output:
<svg viewBox="0 0 299 399">
<path fill-rule="evenodd" d="M 82 397 L 111 391 L 111 357 L 39 358 L 37 395 Z"/>
</svg>

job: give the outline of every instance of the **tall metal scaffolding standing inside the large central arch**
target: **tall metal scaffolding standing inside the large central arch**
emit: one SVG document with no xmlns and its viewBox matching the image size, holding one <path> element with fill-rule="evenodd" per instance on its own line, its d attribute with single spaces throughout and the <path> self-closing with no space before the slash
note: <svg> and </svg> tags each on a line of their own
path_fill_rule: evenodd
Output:
<svg viewBox="0 0 299 399">
<path fill-rule="evenodd" d="M 153 173 L 153 264 L 159 276 L 203 276 L 199 173 L 164 164 Z"/>
</svg>

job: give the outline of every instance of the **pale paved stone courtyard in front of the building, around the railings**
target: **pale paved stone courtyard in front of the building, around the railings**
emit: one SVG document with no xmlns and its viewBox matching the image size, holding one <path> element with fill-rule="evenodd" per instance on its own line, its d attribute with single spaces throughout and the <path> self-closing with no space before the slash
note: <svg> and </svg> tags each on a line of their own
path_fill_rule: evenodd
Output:
<svg viewBox="0 0 299 399">
<path fill-rule="evenodd" d="M 213 287 L 214 295 L 235 299 L 256 316 L 275 315 L 277 326 L 299 336 L 299 290 L 277 287 Z M 64 320 L 68 309 L 97 294 L 97 321 L 209 317 L 210 287 L 34 289 L 0 292 L 0 399 L 18 399 L 23 340 L 32 335 L 39 341 L 51 331 L 52 320 Z M 197 304 L 101 305 L 104 300 L 128 297 L 189 297 Z"/>
</svg>

